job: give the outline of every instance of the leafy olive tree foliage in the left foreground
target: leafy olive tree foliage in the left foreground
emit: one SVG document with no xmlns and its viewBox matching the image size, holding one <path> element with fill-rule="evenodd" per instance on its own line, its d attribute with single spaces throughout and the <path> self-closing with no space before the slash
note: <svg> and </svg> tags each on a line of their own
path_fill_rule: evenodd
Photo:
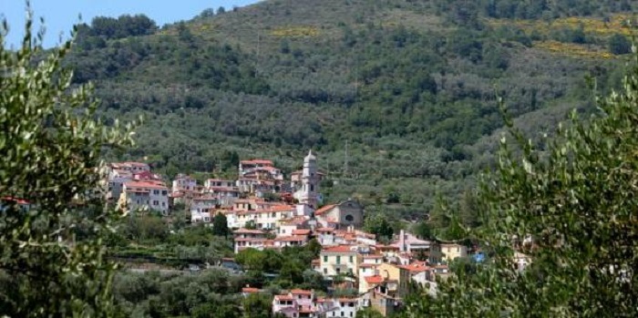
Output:
<svg viewBox="0 0 638 318">
<path fill-rule="evenodd" d="M 129 145 L 131 133 L 96 120 L 90 86 L 71 87 L 61 67 L 71 42 L 44 52 L 31 25 L 29 15 L 15 51 L 0 28 L 0 313 L 109 316 L 115 264 L 101 238 L 118 214 L 94 191 L 101 150 Z"/>
</svg>

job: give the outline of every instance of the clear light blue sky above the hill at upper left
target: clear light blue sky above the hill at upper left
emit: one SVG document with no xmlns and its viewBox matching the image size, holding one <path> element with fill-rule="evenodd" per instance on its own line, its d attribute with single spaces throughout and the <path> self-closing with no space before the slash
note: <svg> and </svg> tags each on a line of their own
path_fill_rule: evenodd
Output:
<svg viewBox="0 0 638 318">
<path fill-rule="evenodd" d="M 31 9 L 36 20 L 44 17 L 46 26 L 45 47 L 59 43 L 60 35 L 67 39 L 73 25 L 82 16 L 82 21 L 90 23 L 95 16 L 144 14 L 155 20 L 158 26 L 189 20 L 208 8 L 223 6 L 226 10 L 233 6 L 251 5 L 258 0 L 31 0 Z M 6 19 L 9 34 L 5 46 L 17 46 L 24 35 L 26 16 L 25 0 L 0 0 L 0 20 Z M 39 28 L 36 24 L 35 30 Z"/>
</svg>

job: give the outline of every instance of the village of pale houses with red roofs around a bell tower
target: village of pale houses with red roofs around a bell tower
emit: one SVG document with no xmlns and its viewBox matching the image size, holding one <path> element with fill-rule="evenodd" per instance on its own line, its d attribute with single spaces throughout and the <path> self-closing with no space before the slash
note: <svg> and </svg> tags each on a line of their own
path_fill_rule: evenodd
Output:
<svg viewBox="0 0 638 318">
<path fill-rule="evenodd" d="M 367 307 L 384 316 L 395 313 L 414 283 L 436 290 L 436 278 L 449 274 L 448 263 L 475 251 L 457 242 L 426 241 L 400 231 L 382 243 L 362 231 L 364 207 L 356 200 L 324 202 L 324 174 L 312 153 L 304 168 L 286 180 L 267 159 L 242 160 L 236 180 L 197 180 L 180 174 L 167 185 L 148 164 L 111 163 L 108 200 L 135 213 L 154 210 L 169 216 L 175 206 L 190 211 L 190 223 L 212 225 L 223 214 L 232 230 L 234 252 L 321 245 L 312 269 L 334 286 L 357 291 L 355 297 L 320 297 L 292 289 L 273 297 L 273 313 L 286 317 L 355 317 Z M 272 198 L 278 198 L 272 200 Z M 524 267 L 526 259 L 521 258 Z M 233 264 L 224 259 L 224 264 Z M 261 292 L 246 286 L 244 295 Z"/>
</svg>

